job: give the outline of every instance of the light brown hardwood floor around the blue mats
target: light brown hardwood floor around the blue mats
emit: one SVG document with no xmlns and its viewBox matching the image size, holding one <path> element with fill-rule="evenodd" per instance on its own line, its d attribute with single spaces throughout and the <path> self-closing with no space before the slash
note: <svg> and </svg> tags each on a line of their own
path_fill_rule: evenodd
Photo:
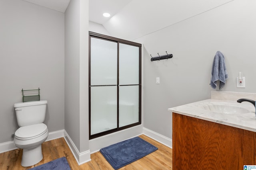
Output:
<svg viewBox="0 0 256 170">
<path fill-rule="evenodd" d="M 171 170 L 172 149 L 154 141 L 153 139 L 140 135 L 140 138 L 158 147 L 158 150 L 144 156 L 143 158 L 128 164 L 120 170 Z M 34 166 L 22 167 L 20 165 L 22 149 L 11 150 L 0 154 L 0 170 L 27 170 L 29 168 L 50 162 L 65 156 L 72 170 L 114 170 L 100 152 L 91 154 L 92 161 L 78 166 L 71 150 L 64 138 L 44 142 L 42 144 L 44 158 Z"/>
</svg>

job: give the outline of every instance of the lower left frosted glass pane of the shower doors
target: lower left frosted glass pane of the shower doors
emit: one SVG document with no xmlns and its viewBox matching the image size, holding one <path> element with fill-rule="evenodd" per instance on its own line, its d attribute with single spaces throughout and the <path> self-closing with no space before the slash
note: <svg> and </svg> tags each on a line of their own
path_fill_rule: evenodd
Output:
<svg viewBox="0 0 256 170">
<path fill-rule="evenodd" d="M 117 86 L 91 87 L 91 135 L 117 128 Z"/>
</svg>

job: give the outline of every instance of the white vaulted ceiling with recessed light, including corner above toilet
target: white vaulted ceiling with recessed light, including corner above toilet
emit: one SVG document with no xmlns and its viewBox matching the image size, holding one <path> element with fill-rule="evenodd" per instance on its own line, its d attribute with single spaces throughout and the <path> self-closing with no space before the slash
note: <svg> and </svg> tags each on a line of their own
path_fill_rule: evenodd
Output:
<svg viewBox="0 0 256 170">
<path fill-rule="evenodd" d="M 65 12 L 70 0 L 25 0 Z M 114 37 L 134 40 L 233 0 L 89 0 L 89 20 Z M 108 12 L 110 18 L 102 14 Z M 196 23 L 195 23 L 196 24 Z"/>
</svg>

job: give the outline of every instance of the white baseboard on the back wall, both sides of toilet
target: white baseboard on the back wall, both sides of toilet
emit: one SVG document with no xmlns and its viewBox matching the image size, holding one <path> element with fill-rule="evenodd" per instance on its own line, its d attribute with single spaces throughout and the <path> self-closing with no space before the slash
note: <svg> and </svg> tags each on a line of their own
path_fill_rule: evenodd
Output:
<svg viewBox="0 0 256 170">
<path fill-rule="evenodd" d="M 64 137 L 64 130 L 50 132 L 46 141 L 51 141 L 53 139 L 58 139 L 61 137 Z M 10 150 L 15 150 L 15 149 L 18 149 L 18 148 L 14 145 L 13 141 L 0 143 L 0 153 L 8 152 Z"/>
</svg>

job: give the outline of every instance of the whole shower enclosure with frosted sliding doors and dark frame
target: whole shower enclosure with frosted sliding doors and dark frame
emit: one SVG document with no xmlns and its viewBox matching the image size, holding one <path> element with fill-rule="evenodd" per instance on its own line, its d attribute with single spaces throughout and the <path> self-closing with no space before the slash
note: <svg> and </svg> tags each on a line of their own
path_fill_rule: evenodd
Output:
<svg viewBox="0 0 256 170">
<path fill-rule="evenodd" d="M 89 32 L 90 139 L 141 124 L 141 44 Z"/>
</svg>

